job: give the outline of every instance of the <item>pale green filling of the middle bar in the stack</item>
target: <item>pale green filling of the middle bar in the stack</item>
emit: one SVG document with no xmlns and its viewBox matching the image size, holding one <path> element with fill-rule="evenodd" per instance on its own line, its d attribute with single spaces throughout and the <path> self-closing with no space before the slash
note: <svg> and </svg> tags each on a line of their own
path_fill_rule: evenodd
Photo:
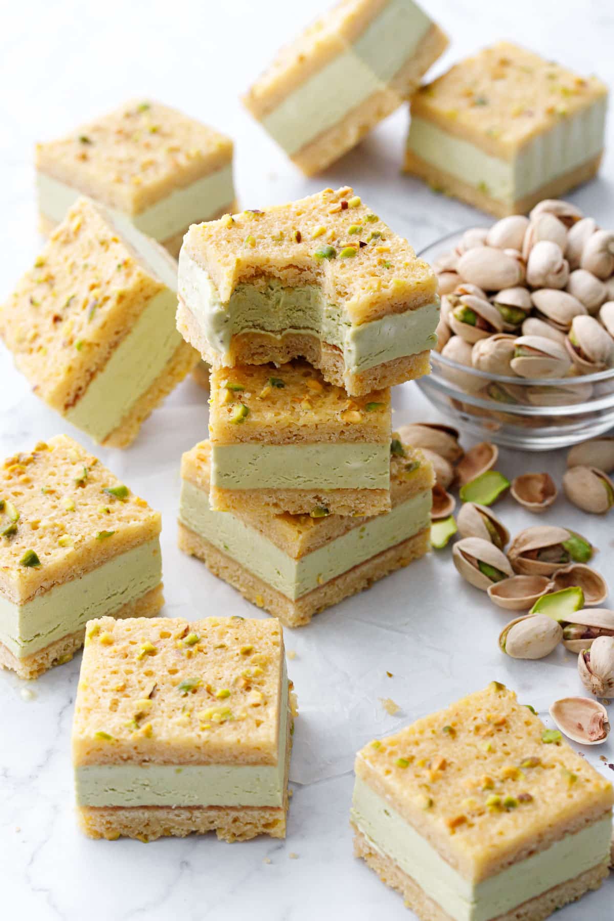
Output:
<svg viewBox="0 0 614 921">
<path fill-rule="evenodd" d="M 224 489 L 388 489 L 390 444 L 212 445 L 211 483 Z"/>
</svg>

